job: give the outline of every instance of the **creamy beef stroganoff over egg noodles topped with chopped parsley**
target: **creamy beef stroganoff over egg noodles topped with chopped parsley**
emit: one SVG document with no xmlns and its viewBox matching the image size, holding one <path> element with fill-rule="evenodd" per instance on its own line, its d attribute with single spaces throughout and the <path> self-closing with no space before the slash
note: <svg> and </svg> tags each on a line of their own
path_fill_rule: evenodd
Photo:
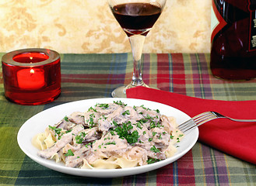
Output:
<svg viewBox="0 0 256 186">
<path fill-rule="evenodd" d="M 66 167 L 116 169 L 174 156 L 183 133 L 174 117 L 144 105 L 99 103 L 73 112 L 33 137 L 39 157 Z"/>
</svg>

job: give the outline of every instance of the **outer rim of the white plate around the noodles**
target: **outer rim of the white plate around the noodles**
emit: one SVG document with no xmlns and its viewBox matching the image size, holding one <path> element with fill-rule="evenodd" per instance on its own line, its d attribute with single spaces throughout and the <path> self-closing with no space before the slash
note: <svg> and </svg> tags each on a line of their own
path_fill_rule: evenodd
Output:
<svg viewBox="0 0 256 186">
<path fill-rule="evenodd" d="M 37 118 L 38 116 L 44 114 L 45 112 L 51 112 L 51 110 L 54 109 L 58 109 L 58 108 L 62 108 L 65 107 L 66 105 L 76 105 L 82 102 L 102 102 L 101 100 L 106 100 L 106 101 L 119 101 L 121 100 L 121 102 L 124 102 L 125 104 L 128 104 L 128 101 L 139 101 L 139 102 L 148 102 L 148 103 L 156 103 L 157 105 L 164 105 L 167 107 L 170 107 L 174 110 L 176 110 L 177 112 L 181 112 L 183 115 L 186 115 L 188 119 L 191 119 L 191 117 L 189 115 L 187 115 L 185 112 L 182 112 L 181 110 L 174 108 L 170 105 L 166 105 L 160 102 L 153 102 L 153 101 L 149 101 L 149 100 L 144 100 L 144 99 L 138 99 L 138 98 L 89 98 L 89 99 L 82 99 L 82 100 L 78 100 L 78 101 L 74 101 L 74 102 L 66 102 L 60 105 L 56 105 L 53 106 L 51 108 L 47 108 L 41 112 L 38 112 L 36 115 L 33 115 L 32 117 L 30 117 L 30 119 L 27 119 L 26 122 L 23 123 L 23 125 L 19 128 L 19 132 L 17 133 L 17 142 L 19 145 L 19 148 L 21 150 L 23 150 L 23 153 L 26 154 L 26 156 L 30 157 L 30 159 L 34 160 L 35 162 L 37 162 L 37 164 L 40 164 L 44 167 L 48 167 L 54 171 L 58 171 L 58 172 L 62 172 L 65 174 L 72 174 L 72 175 L 77 175 L 77 176 L 82 176 L 82 177 L 122 177 L 122 176 L 128 176 L 128 175 L 134 175 L 134 174 L 142 174 L 144 172 L 148 172 L 148 171 L 153 171 L 156 170 L 160 167 L 164 167 L 167 164 L 172 164 L 174 161 L 180 159 L 181 157 L 184 156 L 184 154 L 188 153 L 189 150 L 191 150 L 191 148 L 193 146 L 195 146 L 195 143 L 198 141 L 198 136 L 199 136 L 199 131 L 198 128 L 196 127 L 195 129 L 191 130 L 190 132 L 186 133 L 186 136 L 189 133 L 194 133 L 194 139 L 192 140 L 192 142 L 189 144 L 189 146 L 183 150 L 180 153 L 175 153 L 173 157 L 169 157 L 166 160 L 162 160 L 160 162 L 154 163 L 154 164 L 148 164 L 148 165 L 143 165 L 143 166 L 139 166 L 139 167 L 129 167 L 129 168 L 123 168 L 123 169 L 79 169 L 79 168 L 72 168 L 72 167 L 64 167 L 61 164 L 57 164 L 57 163 L 49 163 L 48 161 L 52 161 L 53 160 L 46 160 L 40 157 L 34 156 L 32 153 L 30 153 L 29 151 L 26 150 L 26 148 L 24 147 L 24 144 L 21 143 L 22 140 L 22 134 L 24 132 L 24 129 L 26 129 L 27 125 L 30 124 L 30 121 Z M 103 102 L 106 102 L 103 101 Z M 127 101 L 127 102 L 125 102 Z M 86 110 L 85 110 L 86 111 Z M 75 112 L 75 111 L 72 111 Z M 161 112 L 161 111 L 160 111 Z M 64 115 L 64 114 L 63 114 Z M 44 131 L 42 131 L 43 133 Z M 33 134 L 33 136 L 36 135 Z M 31 139 L 30 139 L 31 140 Z M 30 141 L 31 143 L 31 141 Z M 31 143 L 32 145 L 32 143 Z M 34 147 L 36 148 L 36 147 Z M 61 169 L 61 170 L 60 170 Z M 97 173 L 97 175 L 95 175 Z"/>
</svg>

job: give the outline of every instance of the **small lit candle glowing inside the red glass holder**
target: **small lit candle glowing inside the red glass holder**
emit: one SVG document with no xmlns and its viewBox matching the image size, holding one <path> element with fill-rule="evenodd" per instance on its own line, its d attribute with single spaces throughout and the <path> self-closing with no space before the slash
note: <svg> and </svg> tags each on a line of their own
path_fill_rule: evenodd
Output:
<svg viewBox="0 0 256 186">
<path fill-rule="evenodd" d="M 44 69 L 26 68 L 17 72 L 19 88 L 35 90 L 44 87 Z"/>
</svg>

